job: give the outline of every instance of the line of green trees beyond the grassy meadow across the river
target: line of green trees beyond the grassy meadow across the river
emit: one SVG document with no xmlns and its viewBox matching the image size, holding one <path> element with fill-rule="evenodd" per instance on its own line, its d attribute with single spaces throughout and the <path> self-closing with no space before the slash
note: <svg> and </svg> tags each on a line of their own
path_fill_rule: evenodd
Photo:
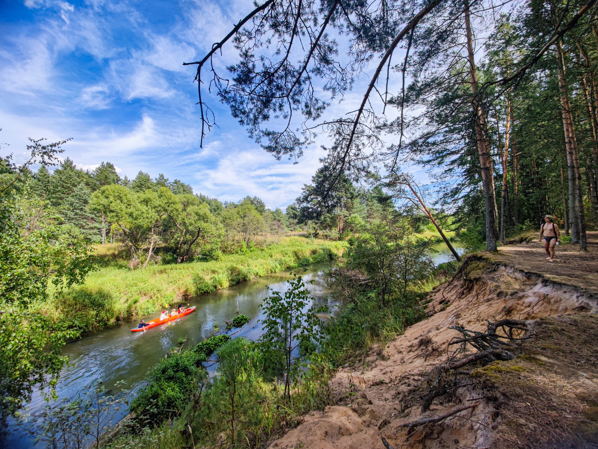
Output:
<svg viewBox="0 0 598 449">
<path fill-rule="evenodd" d="M 30 175 L 32 192 L 56 211 L 58 225 L 75 227 L 94 243 L 125 245 L 132 266 L 141 268 L 159 257 L 158 247 L 167 247 L 176 263 L 218 259 L 222 251 L 266 242 L 289 228 L 285 213 L 257 196 L 223 203 L 163 174 L 121 178 L 110 162 L 83 171 L 67 157 L 53 171 L 42 165 Z"/>
</svg>

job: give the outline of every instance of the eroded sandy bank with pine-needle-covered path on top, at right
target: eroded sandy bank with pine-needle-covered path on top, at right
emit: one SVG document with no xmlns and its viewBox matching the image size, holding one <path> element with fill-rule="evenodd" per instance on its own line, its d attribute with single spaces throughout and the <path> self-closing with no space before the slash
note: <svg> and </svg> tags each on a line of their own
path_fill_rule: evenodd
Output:
<svg viewBox="0 0 598 449">
<path fill-rule="evenodd" d="M 336 405 L 308 415 L 270 447 L 383 449 L 385 438 L 395 449 L 598 448 L 596 250 L 594 242 L 587 255 L 569 246 L 559 245 L 558 265 L 535 245 L 469 256 L 429 296 L 427 320 L 386 347 L 374 345 L 361 365 L 341 369 Z M 449 326 L 484 332 L 484 320 L 503 318 L 530 320 L 533 338 L 523 341 L 521 355 L 453 372 L 459 386 L 422 414 L 433 369 L 446 363 L 448 343 L 460 335 Z M 470 407 L 410 436 L 401 426 L 463 406 Z"/>
</svg>

